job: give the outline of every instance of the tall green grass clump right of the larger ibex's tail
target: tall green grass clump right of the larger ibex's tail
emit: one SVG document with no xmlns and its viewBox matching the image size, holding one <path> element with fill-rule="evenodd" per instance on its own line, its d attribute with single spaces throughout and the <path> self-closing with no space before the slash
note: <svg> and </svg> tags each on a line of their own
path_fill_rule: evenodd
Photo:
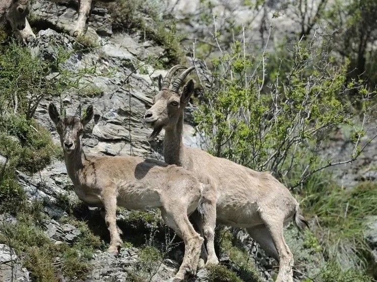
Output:
<svg viewBox="0 0 377 282">
<path fill-rule="evenodd" d="M 329 176 L 318 174 L 309 179 L 302 191 L 302 207 L 307 217 L 317 217 L 319 225 L 314 230 L 319 241 L 309 236 L 305 244 L 314 244 L 343 271 L 356 269 L 366 273 L 370 246 L 364 232 L 366 218 L 377 216 L 377 184 L 363 182 L 344 190 Z"/>
</svg>

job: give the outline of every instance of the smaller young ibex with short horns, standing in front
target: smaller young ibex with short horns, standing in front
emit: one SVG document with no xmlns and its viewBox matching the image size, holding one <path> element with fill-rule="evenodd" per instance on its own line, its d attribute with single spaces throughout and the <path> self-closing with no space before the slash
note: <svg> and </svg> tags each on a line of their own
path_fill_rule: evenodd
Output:
<svg viewBox="0 0 377 282">
<path fill-rule="evenodd" d="M 117 254 L 122 244 L 116 224 L 117 205 L 128 209 L 160 208 L 166 224 L 185 244 L 183 262 L 173 281 L 183 280 L 186 273 L 194 274 L 204 239 L 187 216 L 198 207 L 206 187 L 177 165 L 131 156 L 86 156 L 80 138 L 93 116 L 91 105 L 82 119 L 81 107 L 75 116 L 60 117 L 52 103 L 49 115 L 59 133 L 75 193 L 88 205 L 105 208 L 111 238 L 109 252 Z"/>
</svg>

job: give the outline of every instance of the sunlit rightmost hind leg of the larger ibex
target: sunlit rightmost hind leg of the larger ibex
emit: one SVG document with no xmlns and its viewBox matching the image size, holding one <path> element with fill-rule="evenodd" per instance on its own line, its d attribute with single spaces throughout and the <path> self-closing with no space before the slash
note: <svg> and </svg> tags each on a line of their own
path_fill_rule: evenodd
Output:
<svg viewBox="0 0 377 282">
<path fill-rule="evenodd" d="M 276 216 L 276 213 L 260 214 L 262 220 L 266 225 L 272 242 L 276 248 L 279 261 L 279 272 L 275 282 L 293 282 L 293 270 L 294 264 L 293 255 L 284 240 L 283 225 L 284 219 Z"/>
</svg>

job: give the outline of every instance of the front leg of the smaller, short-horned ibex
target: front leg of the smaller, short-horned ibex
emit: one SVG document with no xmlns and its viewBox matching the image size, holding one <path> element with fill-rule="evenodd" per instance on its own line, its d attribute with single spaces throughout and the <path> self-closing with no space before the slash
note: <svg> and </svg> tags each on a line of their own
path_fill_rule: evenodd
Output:
<svg viewBox="0 0 377 282">
<path fill-rule="evenodd" d="M 116 223 L 116 211 L 117 211 L 117 199 L 116 191 L 113 188 L 108 187 L 104 189 L 102 193 L 102 202 L 105 207 L 105 222 L 110 233 L 110 247 L 108 252 L 117 255 L 118 248 L 122 245 L 120 239 L 117 223 Z"/>
</svg>

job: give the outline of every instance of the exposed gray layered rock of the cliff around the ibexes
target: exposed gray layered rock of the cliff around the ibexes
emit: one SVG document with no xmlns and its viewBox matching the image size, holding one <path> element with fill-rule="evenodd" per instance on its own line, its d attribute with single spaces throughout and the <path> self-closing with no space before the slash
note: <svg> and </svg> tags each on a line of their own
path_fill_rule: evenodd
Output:
<svg viewBox="0 0 377 282">
<path fill-rule="evenodd" d="M 270 8 L 277 5 L 274 1 L 269 3 L 268 7 Z M 241 21 L 247 21 L 250 17 L 250 11 L 236 4 L 232 2 L 220 3 L 215 8 L 218 13 L 226 14 L 233 7 L 234 9 L 231 9 L 232 15 L 236 15 Z M 82 93 L 73 94 L 67 92 L 62 97 L 62 105 L 67 109 L 68 114 L 72 114 L 78 104 L 83 106 L 93 104 L 95 108 L 94 121 L 87 126 L 82 138 L 84 150 L 96 155 L 137 155 L 162 159 L 161 136 L 163 136 L 163 133 L 158 140 L 148 142 L 147 136 L 151 130 L 143 125 L 142 118 L 157 91 L 158 76 L 160 74 L 164 75 L 166 72 L 148 65 L 146 62 L 150 56 L 160 55 L 164 50 L 163 47 L 154 42 L 144 40 L 142 31 L 131 34 L 126 32 L 114 34 L 111 26 L 112 19 L 108 11 L 104 8 L 95 8 L 89 20 L 87 35 L 92 40 L 99 42 L 99 46 L 90 51 L 75 51 L 75 39 L 62 31 L 73 29 L 76 5 L 74 2 L 69 2 L 68 4 L 56 4 L 43 0 L 33 2 L 32 13 L 39 18 L 36 21 L 38 23 L 37 26 L 38 28 L 43 28 L 38 32 L 36 40 L 30 44 L 30 48 L 36 56 L 45 60 L 55 58 L 59 48 L 69 51 L 71 54 L 63 64 L 64 68 L 69 71 L 77 71 L 83 68 L 96 69 L 94 73 L 83 77 L 82 83 L 86 86 L 83 88 Z M 165 3 L 162 8 L 166 8 L 165 11 L 174 11 L 178 17 L 183 19 L 185 13 L 195 14 L 198 11 L 198 5 L 199 1 L 190 2 L 190 4 L 185 1 L 171 1 Z M 260 11 L 260 13 L 262 12 Z M 195 18 L 192 21 L 195 21 Z M 200 24 L 195 25 L 192 23 L 194 28 L 188 30 L 184 28 L 183 21 L 178 26 L 183 31 L 190 31 L 193 36 L 200 36 L 201 29 L 203 29 Z M 51 27 L 51 29 L 46 29 L 45 27 Z M 287 30 L 289 30 L 289 27 L 291 27 L 291 23 L 287 23 Z M 262 42 L 262 39 L 259 38 L 259 42 Z M 140 65 L 143 65 L 143 68 L 140 68 Z M 90 89 L 96 89 L 95 95 L 90 93 Z M 94 90 L 92 91 L 94 92 Z M 60 102 L 58 99 L 53 99 L 53 101 L 57 104 Z M 59 137 L 46 110 L 50 102 L 51 100 L 42 100 L 40 102 L 35 118 L 39 123 L 51 130 L 54 141 L 59 143 Z M 192 110 L 193 106 L 187 109 L 186 121 L 192 120 L 190 119 Z M 194 135 L 194 125 L 186 123 L 184 127 L 185 144 L 200 146 L 200 138 Z M 339 143 L 342 143 L 342 140 Z M 373 146 L 376 146 L 375 142 L 373 144 Z M 369 153 L 367 154 L 366 158 L 363 159 L 364 162 L 375 163 L 375 157 L 371 156 L 372 151 L 373 149 L 370 149 L 370 155 Z M 340 154 L 338 148 L 332 148 L 329 153 Z M 349 171 L 344 174 L 347 174 L 349 178 L 355 181 L 360 175 L 358 170 L 352 175 Z M 371 168 L 369 172 L 362 173 L 360 177 L 368 177 L 375 180 L 375 171 Z M 69 205 L 69 203 L 77 201 L 64 162 L 56 160 L 39 174 L 33 176 L 18 172 L 18 178 L 30 201 L 41 200 L 44 203 L 44 211 L 51 219 L 45 220 L 43 227 L 45 234 L 51 241 L 56 244 L 59 244 L 59 242 L 74 243 L 80 236 L 80 231 L 72 224 L 58 222 L 59 219 L 67 214 L 67 203 Z M 342 179 L 345 178 L 343 177 Z M 62 201 L 62 198 L 65 200 Z M 92 225 L 102 224 L 102 228 L 106 229 L 100 211 L 85 209 L 85 216 Z M 12 222 L 16 219 L 11 215 L 4 214 L 2 215 L 2 220 Z M 127 225 L 124 216 L 120 214 L 118 222 L 122 221 L 126 227 L 126 230 L 123 230 L 125 236 L 144 236 L 143 234 L 132 234 L 132 232 L 135 232 L 132 228 L 131 234 L 127 235 L 130 227 Z M 371 230 L 373 228 L 375 229 L 374 225 L 371 225 Z M 298 246 L 302 245 L 302 238 L 293 229 L 290 229 L 289 234 L 290 239 L 288 239 L 288 242 L 293 252 L 299 252 Z M 235 231 L 234 236 L 238 238 L 253 261 L 255 261 L 260 276 L 266 281 L 272 280 L 271 275 L 274 272 L 271 271 L 271 268 L 275 263 L 265 256 L 263 251 L 259 250 L 257 244 L 245 233 Z M 375 244 L 375 237 L 375 230 L 371 231 L 368 238 L 370 238 L 372 244 Z M 118 257 L 98 251 L 92 258 L 92 270 L 88 273 L 86 281 L 131 280 L 132 274 L 138 271 L 138 256 L 139 250 L 135 247 L 122 248 Z M 307 259 L 308 257 L 310 257 L 310 260 Z M 179 266 L 179 259 L 181 259 L 181 251 L 179 250 L 175 254 L 165 257 L 157 269 L 154 270 L 153 275 L 151 274 L 149 281 L 165 281 L 172 277 Z M 220 259 L 224 264 L 228 263 L 227 257 Z M 301 266 L 302 271 L 311 273 L 310 265 L 323 264 L 323 260 L 320 255 L 314 258 L 314 256 L 308 254 L 306 257 L 302 255 L 296 261 L 306 262 L 306 266 Z M 60 258 L 56 258 L 56 263 L 59 263 L 59 261 Z M 231 267 L 237 269 L 237 265 Z M 9 246 L 1 244 L 0 280 L 30 281 L 30 277 L 29 271 L 23 266 L 22 257 L 17 256 Z M 300 279 L 300 277 L 297 274 L 297 279 Z M 208 271 L 202 269 L 191 281 L 209 280 Z M 62 277 L 62 281 L 69 280 Z"/>
</svg>

